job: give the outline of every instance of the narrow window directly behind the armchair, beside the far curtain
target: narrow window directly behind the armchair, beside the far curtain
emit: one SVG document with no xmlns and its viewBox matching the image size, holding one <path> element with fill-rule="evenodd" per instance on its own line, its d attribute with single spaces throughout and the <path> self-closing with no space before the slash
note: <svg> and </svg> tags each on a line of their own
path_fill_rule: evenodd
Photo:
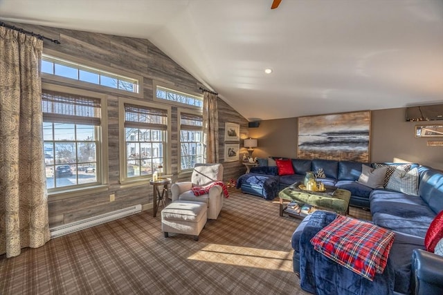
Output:
<svg viewBox="0 0 443 295">
<path fill-rule="evenodd" d="M 180 117 L 180 169 L 194 168 L 204 163 L 203 117 L 179 111 Z"/>
</svg>

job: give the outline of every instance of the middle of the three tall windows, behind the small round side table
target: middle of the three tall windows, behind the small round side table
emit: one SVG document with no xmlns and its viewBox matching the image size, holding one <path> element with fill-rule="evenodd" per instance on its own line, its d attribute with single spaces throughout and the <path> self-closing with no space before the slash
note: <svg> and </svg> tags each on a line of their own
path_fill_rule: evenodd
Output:
<svg viewBox="0 0 443 295">
<path fill-rule="evenodd" d="M 150 104 L 137 105 L 120 99 L 124 111 L 125 171 L 122 179 L 150 177 L 167 158 L 168 110 Z M 162 169 L 161 172 L 164 172 Z"/>
</svg>

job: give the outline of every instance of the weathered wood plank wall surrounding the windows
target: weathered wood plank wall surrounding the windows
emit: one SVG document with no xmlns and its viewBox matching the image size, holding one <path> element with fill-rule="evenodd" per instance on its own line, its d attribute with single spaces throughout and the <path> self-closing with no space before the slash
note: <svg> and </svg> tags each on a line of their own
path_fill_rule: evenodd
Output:
<svg viewBox="0 0 443 295">
<path fill-rule="evenodd" d="M 66 55 L 86 59 L 96 64 L 102 64 L 143 76 L 143 101 L 153 102 L 152 81 L 173 84 L 183 91 L 199 93 L 202 85 L 186 72 L 181 66 L 156 48 L 147 39 L 104 35 L 93 32 L 66 30 L 33 26 L 24 23 L 10 23 L 10 25 L 33 31 L 52 39 L 58 39 L 62 44 L 56 45 L 44 41 L 45 50 L 55 50 Z M 45 81 L 44 82 L 49 82 Z M 60 84 L 60 82 L 51 82 Z M 82 87 L 83 88 L 83 87 Z M 87 88 L 85 88 L 87 89 Z M 109 91 L 107 99 L 108 108 L 108 153 L 109 153 L 109 185 L 108 191 L 102 193 L 85 194 L 66 198 L 64 200 L 51 200 L 49 197 L 50 227 L 63 225 L 76 220 L 82 220 L 98 214 L 107 213 L 117 209 L 143 204 L 144 208 L 152 207 L 152 187 L 145 182 L 136 187 L 121 187 L 119 182 L 119 135 L 118 135 L 118 97 Z M 125 95 L 118 95 L 125 97 Z M 134 97 L 129 97 L 134 98 Z M 248 122 L 239 115 L 226 102 L 219 99 L 219 151 L 220 162 L 224 164 L 224 180 L 238 178 L 246 169 L 238 162 L 224 162 L 224 123 L 233 122 L 240 124 L 241 138 L 248 136 Z M 172 181 L 189 180 L 190 174 L 178 174 L 178 137 L 177 134 L 177 107 L 172 107 Z M 240 146 L 243 142 L 240 140 Z M 109 202 L 109 195 L 114 193 L 115 202 Z M 159 218 L 159 215 L 157 215 Z"/>
</svg>

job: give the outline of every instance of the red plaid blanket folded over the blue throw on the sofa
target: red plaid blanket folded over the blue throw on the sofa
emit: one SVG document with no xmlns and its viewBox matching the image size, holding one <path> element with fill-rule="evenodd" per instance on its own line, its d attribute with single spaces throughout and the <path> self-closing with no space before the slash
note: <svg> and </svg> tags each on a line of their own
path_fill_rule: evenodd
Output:
<svg viewBox="0 0 443 295">
<path fill-rule="evenodd" d="M 311 238 L 311 244 L 327 258 L 372 281 L 388 263 L 394 236 L 370 222 L 338 216 Z"/>
</svg>

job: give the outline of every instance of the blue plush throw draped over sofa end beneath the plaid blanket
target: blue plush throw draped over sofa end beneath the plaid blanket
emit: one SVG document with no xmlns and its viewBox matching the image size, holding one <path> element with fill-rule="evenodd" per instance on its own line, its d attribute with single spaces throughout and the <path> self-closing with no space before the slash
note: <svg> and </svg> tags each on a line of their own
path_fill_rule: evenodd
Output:
<svg viewBox="0 0 443 295">
<path fill-rule="evenodd" d="M 335 218 L 335 213 L 314 212 L 300 236 L 302 289 L 315 294 L 392 294 L 394 271 L 390 260 L 383 274 L 376 274 L 374 281 L 371 282 L 314 250 L 309 241 Z"/>
</svg>

